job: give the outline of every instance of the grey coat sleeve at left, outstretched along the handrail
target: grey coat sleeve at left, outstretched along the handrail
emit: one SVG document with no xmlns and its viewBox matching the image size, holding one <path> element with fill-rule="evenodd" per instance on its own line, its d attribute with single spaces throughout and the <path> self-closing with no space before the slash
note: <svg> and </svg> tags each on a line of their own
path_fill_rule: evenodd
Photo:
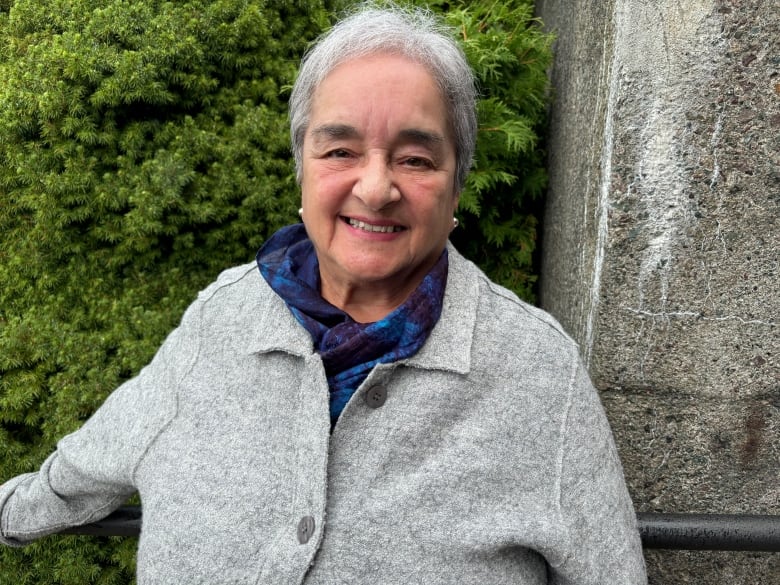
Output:
<svg viewBox="0 0 780 585">
<path fill-rule="evenodd" d="M 0 486 L 0 543 L 21 546 L 97 521 L 135 491 L 134 472 L 176 416 L 176 385 L 197 354 L 197 303 L 152 362 L 115 390 L 36 473 Z"/>
</svg>

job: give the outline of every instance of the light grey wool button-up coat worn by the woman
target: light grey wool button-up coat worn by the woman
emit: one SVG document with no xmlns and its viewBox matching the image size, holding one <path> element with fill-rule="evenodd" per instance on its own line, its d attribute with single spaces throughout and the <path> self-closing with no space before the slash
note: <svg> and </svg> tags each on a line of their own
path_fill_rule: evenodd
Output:
<svg viewBox="0 0 780 585">
<path fill-rule="evenodd" d="M 377 366 L 332 434 L 308 333 L 254 264 L 224 272 L 40 471 L 0 488 L 0 541 L 138 491 L 139 585 L 645 583 L 577 347 L 449 252 L 428 341 Z"/>
</svg>

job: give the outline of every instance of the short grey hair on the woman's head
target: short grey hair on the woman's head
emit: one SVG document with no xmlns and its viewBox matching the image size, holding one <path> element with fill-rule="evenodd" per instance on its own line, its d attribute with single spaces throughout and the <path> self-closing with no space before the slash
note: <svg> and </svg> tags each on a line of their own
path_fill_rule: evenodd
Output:
<svg viewBox="0 0 780 585">
<path fill-rule="evenodd" d="M 290 136 L 295 170 L 303 176 L 303 140 L 317 87 L 337 66 L 360 57 L 389 53 L 425 67 L 441 90 L 455 139 L 455 183 L 463 189 L 477 140 L 474 74 L 453 31 L 429 10 L 374 2 L 338 22 L 301 61 L 290 95 Z"/>
</svg>

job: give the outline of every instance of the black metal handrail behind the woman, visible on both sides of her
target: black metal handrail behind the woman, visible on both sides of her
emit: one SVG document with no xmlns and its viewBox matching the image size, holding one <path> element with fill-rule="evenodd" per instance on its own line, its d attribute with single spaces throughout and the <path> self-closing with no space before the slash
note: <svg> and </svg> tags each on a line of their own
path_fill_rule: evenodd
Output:
<svg viewBox="0 0 780 585">
<path fill-rule="evenodd" d="M 645 548 L 780 552 L 780 516 L 746 514 L 637 514 Z M 138 536 L 141 508 L 126 506 L 99 522 L 63 534 Z"/>
</svg>

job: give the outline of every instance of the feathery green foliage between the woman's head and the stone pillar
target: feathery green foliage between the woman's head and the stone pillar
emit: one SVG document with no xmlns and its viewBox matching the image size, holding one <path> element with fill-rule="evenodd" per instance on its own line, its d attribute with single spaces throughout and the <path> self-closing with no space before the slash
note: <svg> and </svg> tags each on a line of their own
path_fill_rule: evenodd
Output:
<svg viewBox="0 0 780 585">
<path fill-rule="evenodd" d="M 479 100 L 475 164 L 461 196 L 453 243 L 496 282 L 532 301 L 537 220 L 547 184 L 544 133 L 552 36 L 532 0 L 438 3 L 460 31 Z"/>
</svg>

